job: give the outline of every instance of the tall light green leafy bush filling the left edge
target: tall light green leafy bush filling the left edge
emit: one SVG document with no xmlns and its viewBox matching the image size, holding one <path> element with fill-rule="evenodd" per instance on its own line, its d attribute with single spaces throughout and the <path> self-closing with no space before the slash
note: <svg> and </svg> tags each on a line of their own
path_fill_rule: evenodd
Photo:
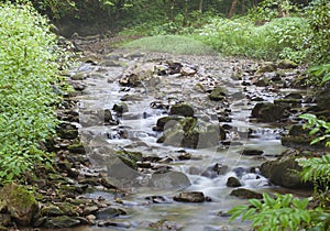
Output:
<svg viewBox="0 0 330 231">
<path fill-rule="evenodd" d="M 54 132 L 59 97 L 56 37 L 29 4 L 0 4 L 0 182 L 46 161 L 38 143 Z"/>
</svg>

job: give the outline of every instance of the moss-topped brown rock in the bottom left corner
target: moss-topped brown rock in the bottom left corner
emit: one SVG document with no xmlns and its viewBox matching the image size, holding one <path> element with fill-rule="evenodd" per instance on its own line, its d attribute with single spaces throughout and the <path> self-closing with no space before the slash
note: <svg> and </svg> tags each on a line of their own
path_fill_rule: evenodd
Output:
<svg viewBox="0 0 330 231">
<path fill-rule="evenodd" d="M 7 208 L 8 213 L 16 224 L 23 227 L 31 224 L 32 218 L 38 210 L 33 194 L 24 186 L 14 183 L 6 185 L 0 190 L 0 205 L 2 208 Z"/>
</svg>

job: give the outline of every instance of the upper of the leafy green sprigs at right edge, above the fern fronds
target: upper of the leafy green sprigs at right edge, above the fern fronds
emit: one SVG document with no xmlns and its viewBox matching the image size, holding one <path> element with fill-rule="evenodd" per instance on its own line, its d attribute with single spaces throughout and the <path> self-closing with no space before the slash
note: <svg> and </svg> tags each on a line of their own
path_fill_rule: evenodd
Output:
<svg viewBox="0 0 330 231">
<path fill-rule="evenodd" d="M 310 130 L 309 134 L 317 135 L 317 138 L 311 141 L 311 145 L 323 141 L 326 142 L 326 146 L 330 146 L 330 122 L 320 120 L 310 113 L 300 114 L 299 118 L 307 120 L 304 128 Z"/>
</svg>

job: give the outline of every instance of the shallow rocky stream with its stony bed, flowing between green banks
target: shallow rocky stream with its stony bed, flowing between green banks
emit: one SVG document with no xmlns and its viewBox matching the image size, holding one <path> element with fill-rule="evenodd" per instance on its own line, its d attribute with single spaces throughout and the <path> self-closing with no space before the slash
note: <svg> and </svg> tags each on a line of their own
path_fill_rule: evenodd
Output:
<svg viewBox="0 0 330 231">
<path fill-rule="evenodd" d="M 177 64 L 186 73 L 168 74 Z M 287 150 L 280 144 L 284 125 L 251 118 L 257 102 L 251 98 L 273 101 L 296 91 L 242 84 L 251 79 L 250 70 L 256 68 L 248 59 L 129 51 L 118 51 L 98 63 L 81 63 L 72 68 L 69 75 L 82 76 L 86 86 L 75 97 L 79 100 L 79 135 L 86 153 L 95 169 L 123 190 L 110 194 L 100 189 L 85 197 L 101 197 L 125 211 L 111 218 L 113 226 L 76 230 L 250 230 L 249 222 L 229 223 L 226 212 L 248 200 L 230 196 L 233 188 L 227 186 L 228 178 L 237 177 L 241 187 L 257 193 L 288 191 L 272 185 L 257 168 L 265 160 L 276 158 Z M 120 79 L 131 74 L 136 74 L 140 80 L 131 79 L 131 86 L 120 84 Z M 226 89 L 224 100 L 209 99 L 209 92 L 217 86 Z M 220 124 L 226 139 L 217 139 L 221 131 L 216 129 L 194 144 L 197 148 L 182 146 L 179 141 L 184 138 L 179 135 L 175 138 L 177 142 L 166 142 L 165 138 L 160 143 L 163 131 L 155 129 L 157 120 L 168 117 L 169 108 L 180 102 L 194 109 L 200 130 Z M 105 122 L 106 117 L 110 119 Z M 177 124 L 166 123 L 164 132 Z M 212 143 L 215 138 L 217 142 Z M 262 154 L 242 155 L 244 150 Z M 136 169 L 113 154 L 120 151 L 142 153 Z M 206 200 L 173 199 L 183 191 L 201 191 Z"/>
</svg>

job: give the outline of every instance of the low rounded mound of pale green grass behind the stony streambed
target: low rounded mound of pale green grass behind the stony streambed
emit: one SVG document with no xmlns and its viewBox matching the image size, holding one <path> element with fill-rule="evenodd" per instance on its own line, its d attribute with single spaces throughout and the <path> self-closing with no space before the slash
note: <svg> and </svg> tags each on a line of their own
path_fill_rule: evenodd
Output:
<svg viewBox="0 0 330 231">
<path fill-rule="evenodd" d="M 202 42 L 182 35 L 158 35 L 143 37 L 124 45 L 125 48 L 142 52 L 160 52 L 177 55 L 211 55 L 216 52 Z"/>
</svg>

